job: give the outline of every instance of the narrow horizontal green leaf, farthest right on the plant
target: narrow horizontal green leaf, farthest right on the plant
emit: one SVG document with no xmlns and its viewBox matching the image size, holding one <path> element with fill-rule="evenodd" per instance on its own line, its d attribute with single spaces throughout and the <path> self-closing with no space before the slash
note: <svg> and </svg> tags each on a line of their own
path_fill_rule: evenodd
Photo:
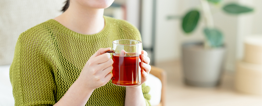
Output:
<svg viewBox="0 0 262 106">
<path fill-rule="evenodd" d="M 231 3 L 227 4 L 223 7 L 223 10 L 225 10 L 227 13 L 231 14 L 241 14 L 241 13 L 247 13 L 253 11 L 253 8 L 245 7 L 239 4 Z"/>
</svg>

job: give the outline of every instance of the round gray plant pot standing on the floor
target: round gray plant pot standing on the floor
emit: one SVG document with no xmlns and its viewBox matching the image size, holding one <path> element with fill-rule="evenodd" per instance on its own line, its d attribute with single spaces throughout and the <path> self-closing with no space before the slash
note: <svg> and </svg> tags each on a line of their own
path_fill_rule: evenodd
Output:
<svg viewBox="0 0 262 106">
<path fill-rule="evenodd" d="M 220 81 L 225 47 L 204 49 L 203 42 L 182 45 L 182 63 L 185 83 L 193 86 L 212 87 Z"/>
</svg>

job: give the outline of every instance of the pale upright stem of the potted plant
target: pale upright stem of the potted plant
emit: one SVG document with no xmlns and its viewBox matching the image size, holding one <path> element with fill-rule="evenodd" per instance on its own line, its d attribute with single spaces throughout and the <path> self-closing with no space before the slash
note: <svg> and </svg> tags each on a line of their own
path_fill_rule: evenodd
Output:
<svg viewBox="0 0 262 106">
<path fill-rule="evenodd" d="M 200 0 L 200 2 L 201 2 L 201 5 L 202 5 L 203 16 L 204 16 L 204 19 L 205 19 L 206 26 L 209 27 L 209 28 L 214 28 L 214 20 L 213 20 L 213 16 L 212 16 L 211 9 L 209 7 L 208 1 L 207 0 Z M 204 42 L 204 47 L 206 49 L 211 47 L 207 39 Z"/>
</svg>

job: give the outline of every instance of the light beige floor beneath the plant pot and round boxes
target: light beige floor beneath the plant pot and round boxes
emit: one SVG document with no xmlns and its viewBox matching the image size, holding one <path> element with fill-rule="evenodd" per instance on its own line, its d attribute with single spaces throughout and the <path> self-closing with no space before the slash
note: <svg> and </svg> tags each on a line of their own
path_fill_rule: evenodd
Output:
<svg viewBox="0 0 262 106">
<path fill-rule="evenodd" d="M 184 85 L 179 61 L 156 66 L 167 71 L 166 106 L 262 106 L 261 96 L 234 91 L 232 74 L 223 74 L 218 87 L 199 88 Z"/>
</svg>

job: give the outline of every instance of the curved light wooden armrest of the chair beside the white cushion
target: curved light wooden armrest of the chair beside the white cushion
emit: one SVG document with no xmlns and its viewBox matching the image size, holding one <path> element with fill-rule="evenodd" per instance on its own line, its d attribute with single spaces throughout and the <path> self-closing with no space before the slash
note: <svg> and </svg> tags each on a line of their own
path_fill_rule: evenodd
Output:
<svg viewBox="0 0 262 106">
<path fill-rule="evenodd" d="M 154 76 L 156 76 L 157 78 L 159 78 L 161 80 L 162 83 L 162 91 L 161 91 L 161 100 L 160 103 L 157 106 L 165 106 L 166 103 L 166 84 L 167 84 L 167 75 L 165 70 L 155 67 L 155 66 L 151 66 L 151 71 L 150 73 Z"/>
</svg>

